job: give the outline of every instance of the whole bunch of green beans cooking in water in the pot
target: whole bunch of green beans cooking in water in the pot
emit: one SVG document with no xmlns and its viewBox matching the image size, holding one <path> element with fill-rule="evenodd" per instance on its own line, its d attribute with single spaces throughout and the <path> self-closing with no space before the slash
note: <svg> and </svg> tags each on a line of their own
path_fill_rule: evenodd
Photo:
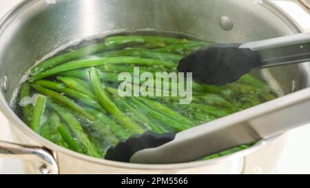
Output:
<svg viewBox="0 0 310 188">
<path fill-rule="evenodd" d="M 54 56 L 33 67 L 28 81 L 21 85 L 21 118 L 61 147 L 103 158 L 108 147 L 132 134 L 181 132 L 276 98 L 265 83 L 250 75 L 223 87 L 194 82 L 192 103 L 187 105 L 179 103 L 181 96 L 118 94 L 119 73 L 134 76 L 136 66 L 140 74 L 176 72 L 180 59 L 210 44 L 163 36 L 112 36 L 103 43 Z M 153 81 L 158 84 L 157 79 Z M 169 94 L 163 87 L 149 91 Z"/>
</svg>

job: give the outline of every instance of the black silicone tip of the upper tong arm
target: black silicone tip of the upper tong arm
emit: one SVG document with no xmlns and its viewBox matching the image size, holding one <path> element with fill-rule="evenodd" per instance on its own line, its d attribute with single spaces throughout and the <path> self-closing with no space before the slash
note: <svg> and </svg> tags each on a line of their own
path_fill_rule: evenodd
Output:
<svg viewBox="0 0 310 188">
<path fill-rule="evenodd" d="M 193 78 L 209 85 L 234 83 L 251 69 L 261 66 L 260 54 L 240 44 L 216 44 L 200 48 L 180 60 L 178 72 L 192 72 Z"/>
</svg>

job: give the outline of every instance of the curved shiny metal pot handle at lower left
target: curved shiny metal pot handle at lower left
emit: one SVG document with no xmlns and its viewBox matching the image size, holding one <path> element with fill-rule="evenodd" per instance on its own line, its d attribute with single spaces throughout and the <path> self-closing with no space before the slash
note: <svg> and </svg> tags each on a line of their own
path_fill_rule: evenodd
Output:
<svg viewBox="0 0 310 188">
<path fill-rule="evenodd" d="M 59 174 L 59 168 L 55 158 L 43 147 L 19 145 L 0 140 L 0 157 L 36 160 L 43 163 L 39 168 L 41 174 Z"/>
</svg>

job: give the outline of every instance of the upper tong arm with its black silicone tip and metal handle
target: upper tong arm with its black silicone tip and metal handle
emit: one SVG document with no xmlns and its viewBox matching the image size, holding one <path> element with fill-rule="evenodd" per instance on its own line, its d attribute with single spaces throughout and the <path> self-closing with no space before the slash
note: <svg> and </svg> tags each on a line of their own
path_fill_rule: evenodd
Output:
<svg viewBox="0 0 310 188">
<path fill-rule="evenodd" d="M 254 68 L 266 68 L 310 60 L 310 33 L 293 34 L 244 44 L 215 44 L 201 48 L 178 65 L 194 79 L 210 85 L 238 81 Z"/>
</svg>

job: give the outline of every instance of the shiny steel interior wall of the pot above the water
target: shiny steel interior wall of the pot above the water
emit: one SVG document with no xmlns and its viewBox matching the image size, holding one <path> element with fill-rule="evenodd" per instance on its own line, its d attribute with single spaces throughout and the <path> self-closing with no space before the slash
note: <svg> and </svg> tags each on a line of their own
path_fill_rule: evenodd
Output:
<svg viewBox="0 0 310 188">
<path fill-rule="evenodd" d="M 51 3 L 47 3 L 51 2 Z M 135 30 L 183 33 L 225 43 L 244 43 L 298 32 L 268 4 L 249 0 L 56 0 L 27 1 L 0 30 L 0 79 L 8 75 L 7 101 L 21 76 L 46 54 L 72 41 Z M 232 30 L 223 30 L 229 17 Z M 286 22 L 285 22 L 286 21 Z M 308 84 L 308 64 L 276 67 L 273 77 L 285 93 Z M 258 72 L 254 72 L 258 75 Z"/>
</svg>

